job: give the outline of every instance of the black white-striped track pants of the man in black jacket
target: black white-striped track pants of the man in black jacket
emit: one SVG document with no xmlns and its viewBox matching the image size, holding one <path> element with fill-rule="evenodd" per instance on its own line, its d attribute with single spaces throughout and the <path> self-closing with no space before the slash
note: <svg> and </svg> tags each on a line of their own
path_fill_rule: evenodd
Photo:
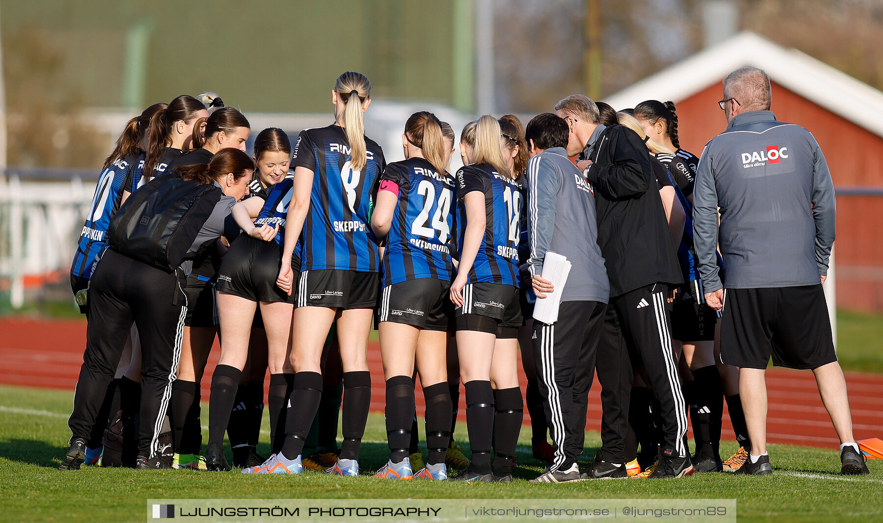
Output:
<svg viewBox="0 0 883 523">
<path fill-rule="evenodd" d="M 661 405 L 664 445 L 681 456 L 687 449 L 687 409 L 677 361 L 671 347 L 668 287 L 657 283 L 610 299 L 598 346 L 601 385 L 601 459 L 623 463 L 629 422 L 632 368 L 644 365 L 653 395 Z"/>
</svg>

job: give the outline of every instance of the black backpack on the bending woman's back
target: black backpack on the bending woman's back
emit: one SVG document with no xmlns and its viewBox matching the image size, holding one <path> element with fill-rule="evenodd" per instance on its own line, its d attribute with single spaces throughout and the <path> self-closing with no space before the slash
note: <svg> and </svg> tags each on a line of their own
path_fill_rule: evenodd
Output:
<svg viewBox="0 0 883 523">
<path fill-rule="evenodd" d="M 221 196 L 213 183 L 157 176 L 133 192 L 110 220 L 109 247 L 174 273 Z"/>
</svg>

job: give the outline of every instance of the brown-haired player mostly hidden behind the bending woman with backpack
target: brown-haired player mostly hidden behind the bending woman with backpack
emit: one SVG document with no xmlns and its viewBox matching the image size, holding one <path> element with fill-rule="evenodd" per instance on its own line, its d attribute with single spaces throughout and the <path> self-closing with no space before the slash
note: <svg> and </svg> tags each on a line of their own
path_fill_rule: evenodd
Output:
<svg viewBox="0 0 883 523">
<path fill-rule="evenodd" d="M 201 118 L 193 124 L 193 145 L 200 147 L 178 156 L 169 164 L 168 171 L 177 167 L 208 164 L 215 153 L 223 148 L 235 148 L 245 152 L 245 141 L 251 126 L 245 116 L 235 108 L 219 108 L 205 120 L 205 138 L 200 138 Z M 251 182 L 251 179 L 249 179 Z M 187 316 L 185 318 L 184 343 L 181 346 L 181 362 L 177 379 L 172 387 L 170 417 L 175 453 L 198 456 L 202 446 L 200 428 L 200 380 L 208 362 L 208 354 L 215 342 L 217 320 L 215 318 L 215 275 L 221 265 L 223 246 L 210 246 L 193 261 L 187 273 L 185 293 Z M 176 466 L 199 465 L 198 459 L 176 463 Z"/>
</svg>

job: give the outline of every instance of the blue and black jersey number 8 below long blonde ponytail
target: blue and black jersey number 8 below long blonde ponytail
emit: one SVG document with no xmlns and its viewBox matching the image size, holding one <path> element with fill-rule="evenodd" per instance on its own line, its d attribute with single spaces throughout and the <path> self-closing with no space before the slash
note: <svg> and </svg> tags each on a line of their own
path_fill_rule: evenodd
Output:
<svg viewBox="0 0 883 523">
<path fill-rule="evenodd" d="M 365 138 L 367 163 L 351 168 L 343 127 L 332 124 L 301 131 L 293 168 L 313 171 L 310 211 L 301 232 L 301 271 L 336 269 L 374 273 L 380 269 L 377 241 L 368 226 L 374 182 L 386 162 L 374 140 Z"/>
</svg>

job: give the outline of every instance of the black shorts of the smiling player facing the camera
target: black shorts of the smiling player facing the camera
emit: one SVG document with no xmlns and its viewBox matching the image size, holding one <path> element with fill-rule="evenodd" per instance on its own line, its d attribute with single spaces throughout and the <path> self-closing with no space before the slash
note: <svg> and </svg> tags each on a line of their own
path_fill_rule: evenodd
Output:
<svg viewBox="0 0 883 523">
<path fill-rule="evenodd" d="M 278 243 L 239 235 L 223 257 L 215 290 L 252 302 L 294 303 L 294 293 L 287 295 L 276 285 L 281 265 Z"/>
</svg>

